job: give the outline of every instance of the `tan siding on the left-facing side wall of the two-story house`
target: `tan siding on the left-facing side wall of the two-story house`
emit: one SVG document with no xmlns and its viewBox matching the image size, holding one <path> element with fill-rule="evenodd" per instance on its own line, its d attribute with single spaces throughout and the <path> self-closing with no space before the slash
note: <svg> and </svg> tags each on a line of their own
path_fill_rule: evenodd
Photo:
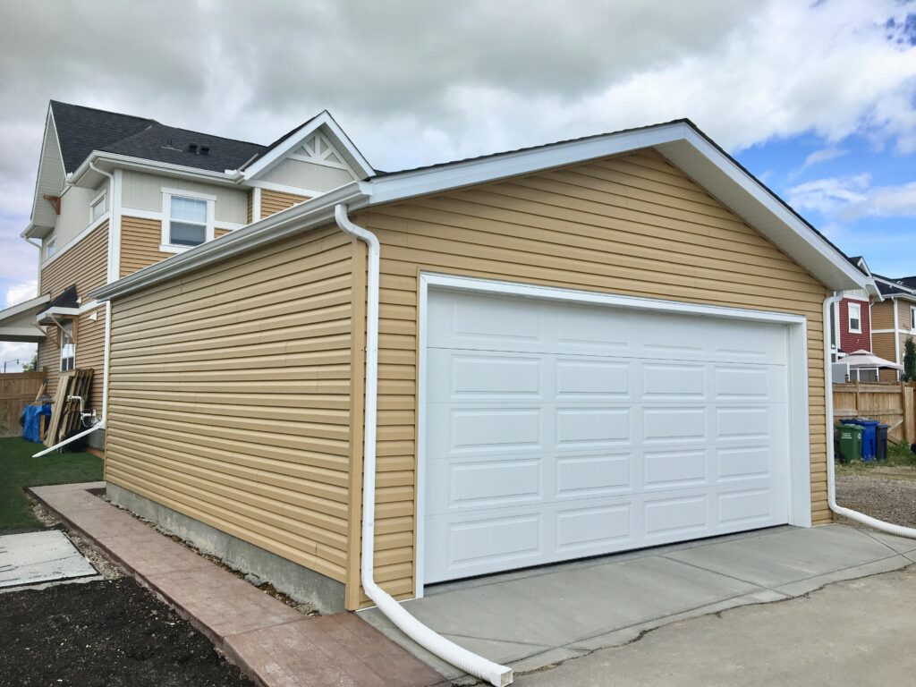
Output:
<svg viewBox="0 0 916 687">
<path fill-rule="evenodd" d="M 41 270 L 39 293 L 49 293 L 51 298 L 72 285 L 76 285 L 77 296 L 88 302 L 89 293 L 104 285 L 108 278 L 108 223 L 104 222 L 78 243 L 68 246 L 48 267 Z M 104 322 L 104 311 L 99 309 L 99 319 Z M 99 328 L 83 322 L 86 313 L 75 327 L 77 335 L 76 366 L 93 367 L 101 375 L 97 351 L 104 346 L 104 326 Z M 49 327 L 49 336 L 38 344 L 38 368 L 48 368 L 47 393 L 51 398 L 57 391 L 60 376 L 60 339 L 56 327 Z M 99 377 L 101 380 L 101 376 Z M 101 409 L 101 381 L 93 380 L 93 403 L 98 401 Z"/>
</svg>

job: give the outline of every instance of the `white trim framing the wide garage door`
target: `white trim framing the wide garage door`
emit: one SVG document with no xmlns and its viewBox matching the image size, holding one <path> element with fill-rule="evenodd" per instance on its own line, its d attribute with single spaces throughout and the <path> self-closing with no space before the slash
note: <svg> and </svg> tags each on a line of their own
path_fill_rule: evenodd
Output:
<svg viewBox="0 0 916 687">
<path fill-rule="evenodd" d="M 788 421 L 789 421 L 789 524 L 811 527 L 811 455 L 808 420 L 808 330 L 802 315 L 753 311 L 741 308 L 703 305 L 671 300 L 619 296 L 597 291 L 557 289 L 493 279 L 460 277 L 431 272 L 420 273 L 418 294 L 418 387 L 417 387 L 417 470 L 415 487 L 414 594 L 423 596 L 426 535 L 426 398 L 428 381 L 427 345 L 429 340 L 429 291 L 451 289 L 499 296 L 544 299 L 583 305 L 611 306 L 640 311 L 690 314 L 697 317 L 732 319 L 747 322 L 784 324 L 787 329 Z"/>
</svg>

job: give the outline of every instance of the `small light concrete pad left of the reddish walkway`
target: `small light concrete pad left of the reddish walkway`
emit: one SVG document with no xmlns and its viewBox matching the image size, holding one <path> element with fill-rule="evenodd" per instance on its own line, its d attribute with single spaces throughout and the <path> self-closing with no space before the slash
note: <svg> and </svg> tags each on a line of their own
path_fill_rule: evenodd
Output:
<svg viewBox="0 0 916 687">
<path fill-rule="evenodd" d="M 0 588 L 98 574 L 57 529 L 0 537 Z"/>
</svg>

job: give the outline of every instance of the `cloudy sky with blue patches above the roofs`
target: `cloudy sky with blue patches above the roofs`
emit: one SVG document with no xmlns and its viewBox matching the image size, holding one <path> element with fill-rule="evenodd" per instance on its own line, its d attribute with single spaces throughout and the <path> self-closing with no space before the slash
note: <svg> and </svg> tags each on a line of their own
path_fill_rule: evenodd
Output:
<svg viewBox="0 0 916 687">
<path fill-rule="evenodd" d="M 258 143 L 327 108 L 378 169 L 686 116 L 916 274 L 914 2 L 0 0 L 0 307 L 35 295 L 51 98 Z"/>
</svg>

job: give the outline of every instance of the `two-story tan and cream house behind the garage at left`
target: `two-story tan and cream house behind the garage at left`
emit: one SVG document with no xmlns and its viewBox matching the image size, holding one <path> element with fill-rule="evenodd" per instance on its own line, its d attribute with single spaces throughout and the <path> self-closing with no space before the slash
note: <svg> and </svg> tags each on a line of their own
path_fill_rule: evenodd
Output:
<svg viewBox="0 0 916 687">
<path fill-rule="evenodd" d="M 0 341 L 38 344 L 52 398 L 60 372 L 93 368 L 85 409 L 101 415 L 106 311 L 93 289 L 370 173 L 327 112 L 264 146 L 51 101 L 22 232 L 39 252 L 38 297 L 0 311 Z"/>
</svg>

